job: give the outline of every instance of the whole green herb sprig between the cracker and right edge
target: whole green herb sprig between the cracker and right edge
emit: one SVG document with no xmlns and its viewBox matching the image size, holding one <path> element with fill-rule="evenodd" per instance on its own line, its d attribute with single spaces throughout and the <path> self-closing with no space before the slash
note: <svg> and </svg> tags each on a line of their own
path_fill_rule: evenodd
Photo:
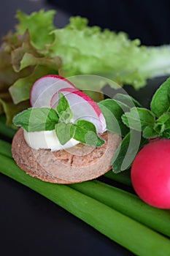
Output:
<svg viewBox="0 0 170 256">
<path fill-rule="evenodd" d="M 137 152 L 150 139 L 170 138 L 170 78 L 153 95 L 150 109 L 142 108 L 126 94 L 116 94 L 113 99 L 99 102 L 98 106 L 106 119 L 107 129 L 123 137 L 112 158 L 115 173 L 128 169 Z"/>
</svg>

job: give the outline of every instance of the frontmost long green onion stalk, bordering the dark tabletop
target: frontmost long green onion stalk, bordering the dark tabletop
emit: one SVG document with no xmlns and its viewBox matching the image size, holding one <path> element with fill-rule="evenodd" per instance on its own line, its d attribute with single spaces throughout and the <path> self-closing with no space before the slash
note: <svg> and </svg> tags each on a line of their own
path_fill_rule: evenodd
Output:
<svg viewBox="0 0 170 256">
<path fill-rule="evenodd" d="M 28 176 L 13 159 L 0 154 L 0 172 L 52 200 L 136 255 L 169 255 L 169 239 L 119 211 L 63 184 Z M 129 234 L 131 236 L 129 236 Z"/>
</svg>

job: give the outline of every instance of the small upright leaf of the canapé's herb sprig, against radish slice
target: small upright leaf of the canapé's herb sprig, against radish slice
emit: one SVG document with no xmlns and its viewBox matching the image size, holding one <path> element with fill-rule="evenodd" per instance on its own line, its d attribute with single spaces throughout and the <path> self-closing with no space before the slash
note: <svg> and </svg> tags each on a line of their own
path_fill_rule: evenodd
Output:
<svg viewBox="0 0 170 256">
<path fill-rule="evenodd" d="M 69 123 L 73 118 L 72 110 L 69 108 L 69 102 L 61 92 L 58 93 L 58 96 L 59 102 L 56 110 L 58 112 L 58 116 L 60 117 L 60 121 Z"/>
</svg>

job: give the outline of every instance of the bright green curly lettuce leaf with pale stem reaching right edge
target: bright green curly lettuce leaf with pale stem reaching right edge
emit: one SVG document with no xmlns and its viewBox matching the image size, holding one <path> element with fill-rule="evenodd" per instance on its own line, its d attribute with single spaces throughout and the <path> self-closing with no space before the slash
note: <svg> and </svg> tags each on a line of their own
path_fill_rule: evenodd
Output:
<svg viewBox="0 0 170 256">
<path fill-rule="evenodd" d="M 47 56 L 61 57 L 60 75 L 64 77 L 101 75 L 139 89 L 148 78 L 170 73 L 169 46 L 146 47 L 122 31 L 88 26 L 88 20 L 81 17 L 70 18 L 68 25 L 58 29 L 53 26 L 54 15 L 43 10 L 31 15 L 18 12 L 17 29 L 19 34 L 28 29 L 32 44 Z M 42 28 L 47 37 L 44 33 L 39 37 Z"/>
</svg>

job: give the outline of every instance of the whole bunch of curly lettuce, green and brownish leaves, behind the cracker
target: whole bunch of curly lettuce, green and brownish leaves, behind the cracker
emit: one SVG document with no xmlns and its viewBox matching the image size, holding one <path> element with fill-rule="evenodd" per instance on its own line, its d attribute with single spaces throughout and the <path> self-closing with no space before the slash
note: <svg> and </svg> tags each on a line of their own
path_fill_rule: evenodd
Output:
<svg viewBox="0 0 170 256">
<path fill-rule="evenodd" d="M 2 39 L 0 113 L 6 114 L 7 124 L 28 107 L 31 86 L 42 75 L 100 75 L 139 89 L 148 78 L 170 73 L 169 46 L 145 47 L 123 32 L 90 27 L 80 17 L 58 29 L 54 15 L 53 10 L 18 11 L 15 31 Z"/>
</svg>

